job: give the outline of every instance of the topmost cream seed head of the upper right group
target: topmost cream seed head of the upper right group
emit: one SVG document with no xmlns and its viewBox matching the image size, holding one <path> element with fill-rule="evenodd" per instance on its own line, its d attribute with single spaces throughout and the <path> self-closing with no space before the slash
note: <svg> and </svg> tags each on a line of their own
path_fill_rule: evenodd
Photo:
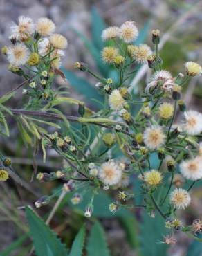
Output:
<svg viewBox="0 0 202 256">
<path fill-rule="evenodd" d="M 122 24 L 122 26 L 120 26 L 119 37 L 127 44 L 133 42 L 138 37 L 138 28 L 135 22 L 126 21 Z"/>
</svg>

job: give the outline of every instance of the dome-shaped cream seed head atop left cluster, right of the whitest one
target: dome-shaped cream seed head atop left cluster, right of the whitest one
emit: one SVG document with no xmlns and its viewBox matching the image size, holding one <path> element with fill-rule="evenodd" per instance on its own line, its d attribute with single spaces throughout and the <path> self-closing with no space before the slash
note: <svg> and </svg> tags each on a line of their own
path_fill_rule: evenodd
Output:
<svg viewBox="0 0 202 256">
<path fill-rule="evenodd" d="M 39 18 L 36 24 L 36 30 L 43 37 L 48 37 L 55 32 L 55 24 L 48 18 Z"/>
</svg>

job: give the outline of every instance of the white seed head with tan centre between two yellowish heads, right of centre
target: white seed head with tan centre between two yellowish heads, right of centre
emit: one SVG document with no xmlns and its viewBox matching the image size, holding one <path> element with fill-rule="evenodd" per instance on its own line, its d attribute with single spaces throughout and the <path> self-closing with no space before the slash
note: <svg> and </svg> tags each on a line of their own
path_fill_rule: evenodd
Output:
<svg viewBox="0 0 202 256">
<path fill-rule="evenodd" d="M 160 126 L 147 127 L 143 134 L 143 139 L 149 149 L 159 149 L 165 143 L 165 134 Z"/>
</svg>

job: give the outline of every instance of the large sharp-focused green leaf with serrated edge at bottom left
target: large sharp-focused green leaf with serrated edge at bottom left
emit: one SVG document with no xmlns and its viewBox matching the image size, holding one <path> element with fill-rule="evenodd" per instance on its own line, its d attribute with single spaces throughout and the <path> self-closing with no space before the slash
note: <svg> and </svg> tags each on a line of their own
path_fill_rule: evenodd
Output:
<svg viewBox="0 0 202 256">
<path fill-rule="evenodd" d="M 65 245 L 57 235 L 29 207 L 26 207 L 26 217 L 37 256 L 50 256 L 50 252 L 53 255 L 68 255 Z"/>
</svg>

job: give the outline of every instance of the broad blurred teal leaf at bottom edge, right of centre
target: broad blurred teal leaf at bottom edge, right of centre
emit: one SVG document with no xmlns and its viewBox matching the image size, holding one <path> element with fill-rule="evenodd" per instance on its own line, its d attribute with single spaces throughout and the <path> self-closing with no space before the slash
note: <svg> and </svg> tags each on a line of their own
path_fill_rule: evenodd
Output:
<svg viewBox="0 0 202 256">
<path fill-rule="evenodd" d="M 166 255 L 168 246 L 158 243 L 166 233 L 164 219 L 156 213 L 156 217 L 150 217 L 146 211 L 140 224 L 141 253 L 144 256 Z"/>
</svg>

